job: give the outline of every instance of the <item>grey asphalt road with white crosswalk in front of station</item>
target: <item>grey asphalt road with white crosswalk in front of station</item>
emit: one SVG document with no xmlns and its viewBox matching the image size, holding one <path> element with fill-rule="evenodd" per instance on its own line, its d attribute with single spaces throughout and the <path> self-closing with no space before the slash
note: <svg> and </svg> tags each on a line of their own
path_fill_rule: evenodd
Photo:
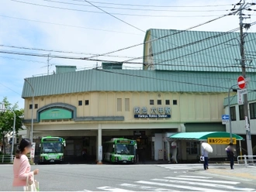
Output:
<svg viewBox="0 0 256 192">
<path fill-rule="evenodd" d="M 40 191 L 256 191 L 251 180 L 211 175 L 200 164 L 32 166 L 36 168 Z M 0 190 L 12 190 L 12 165 L 0 165 L 0 178 Z"/>
</svg>

